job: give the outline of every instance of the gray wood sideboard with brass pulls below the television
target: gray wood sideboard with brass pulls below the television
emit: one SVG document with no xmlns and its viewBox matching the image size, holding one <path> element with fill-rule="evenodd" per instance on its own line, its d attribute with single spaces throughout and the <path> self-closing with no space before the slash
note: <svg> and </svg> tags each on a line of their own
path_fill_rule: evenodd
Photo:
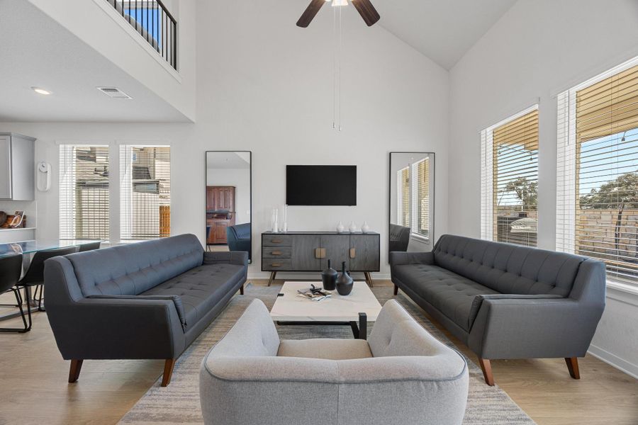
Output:
<svg viewBox="0 0 638 425">
<path fill-rule="evenodd" d="M 379 233 L 285 232 L 262 233 L 262 271 L 269 271 L 270 286 L 278 271 L 340 271 L 345 261 L 349 271 L 363 272 L 372 286 L 370 273 L 381 263 Z"/>
</svg>

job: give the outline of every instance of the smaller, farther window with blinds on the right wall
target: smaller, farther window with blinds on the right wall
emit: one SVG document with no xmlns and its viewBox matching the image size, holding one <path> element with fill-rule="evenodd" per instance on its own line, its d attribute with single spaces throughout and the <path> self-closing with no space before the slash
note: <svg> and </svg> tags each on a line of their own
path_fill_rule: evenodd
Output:
<svg viewBox="0 0 638 425">
<path fill-rule="evenodd" d="M 481 238 L 536 246 L 538 106 L 481 132 Z"/>
</svg>

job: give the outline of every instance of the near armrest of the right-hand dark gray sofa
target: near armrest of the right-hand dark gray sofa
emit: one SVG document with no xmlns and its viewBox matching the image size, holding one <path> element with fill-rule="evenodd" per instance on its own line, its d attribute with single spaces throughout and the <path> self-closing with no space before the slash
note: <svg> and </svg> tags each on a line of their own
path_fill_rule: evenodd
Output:
<svg viewBox="0 0 638 425">
<path fill-rule="evenodd" d="M 468 346 L 481 358 L 581 357 L 603 309 L 563 297 L 483 297 Z"/>
</svg>

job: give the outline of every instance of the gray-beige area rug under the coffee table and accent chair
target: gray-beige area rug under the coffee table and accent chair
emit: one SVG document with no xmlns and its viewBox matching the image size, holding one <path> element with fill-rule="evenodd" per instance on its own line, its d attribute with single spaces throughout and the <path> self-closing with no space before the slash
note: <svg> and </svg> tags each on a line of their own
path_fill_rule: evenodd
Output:
<svg viewBox="0 0 638 425">
<path fill-rule="evenodd" d="M 248 307 L 254 298 L 259 298 L 269 309 L 276 300 L 281 283 L 271 287 L 265 285 L 249 285 L 244 296 L 236 296 L 220 316 L 191 344 L 175 365 L 171 384 L 159 387 L 160 378 L 155 385 L 130 409 L 121 419 L 121 424 L 202 424 L 199 405 L 199 366 L 208 350 L 224 336 L 235 324 L 237 318 Z M 381 305 L 393 297 L 390 285 L 375 286 L 372 291 Z M 430 334 L 449 346 L 451 341 L 442 334 L 410 300 L 398 295 L 396 300 L 422 324 Z M 374 324 L 372 325 L 374 326 Z M 368 327 L 368 331 L 371 327 Z M 352 338 L 349 327 L 319 326 L 283 326 L 278 327 L 281 339 L 308 338 Z M 464 424 L 467 425 L 511 425 L 535 424 L 525 412 L 513 402 L 498 386 L 489 387 L 483 381 L 481 369 L 470 359 L 469 365 L 469 397 L 465 412 Z M 288 424 L 282 424 L 288 425 Z M 293 425 L 293 424 L 291 424 Z"/>
</svg>

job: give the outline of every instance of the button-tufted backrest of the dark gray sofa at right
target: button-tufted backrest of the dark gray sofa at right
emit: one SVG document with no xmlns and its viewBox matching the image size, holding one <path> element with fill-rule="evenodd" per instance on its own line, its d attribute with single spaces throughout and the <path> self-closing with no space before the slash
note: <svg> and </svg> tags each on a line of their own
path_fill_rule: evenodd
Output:
<svg viewBox="0 0 638 425">
<path fill-rule="evenodd" d="M 437 266 L 503 294 L 571 293 L 585 257 L 444 234 L 433 250 Z"/>
</svg>

